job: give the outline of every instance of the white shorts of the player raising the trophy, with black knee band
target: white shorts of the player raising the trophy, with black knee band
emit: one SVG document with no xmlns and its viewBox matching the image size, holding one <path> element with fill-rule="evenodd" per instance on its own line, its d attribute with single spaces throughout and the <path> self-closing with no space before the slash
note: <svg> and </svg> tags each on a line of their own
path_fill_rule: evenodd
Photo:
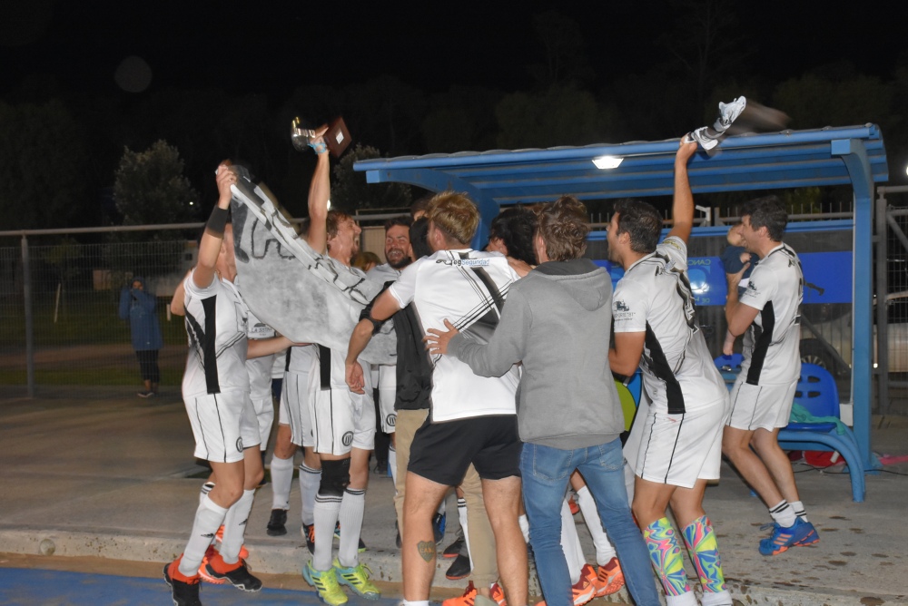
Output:
<svg viewBox="0 0 908 606">
<path fill-rule="evenodd" d="M 318 381 L 310 386 L 312 427 L 315 452 L 348 454 L 353 448 L 372 450 L 375 447 L 375 405 L 371 387 L 366 395 L 350 389 L 331 387 L 321 389 Z"/>
</svg>

